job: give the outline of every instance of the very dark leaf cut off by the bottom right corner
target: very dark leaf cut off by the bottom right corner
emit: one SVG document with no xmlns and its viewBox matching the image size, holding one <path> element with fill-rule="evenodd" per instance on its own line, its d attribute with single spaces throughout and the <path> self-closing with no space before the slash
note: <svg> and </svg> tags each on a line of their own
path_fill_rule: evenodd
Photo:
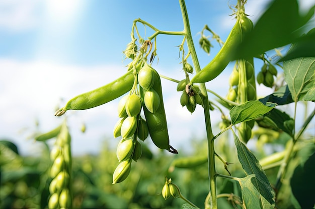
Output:
<svg viewBox="0 0 315 209">
<path fill-rule="evenodd" d="M 315 194 L 315 152 L 307 159 L 304 166 L 298 165 L 291 177 L 292 193 L 298 200 L 301 208 L 314 206 Z"/>
</svg>

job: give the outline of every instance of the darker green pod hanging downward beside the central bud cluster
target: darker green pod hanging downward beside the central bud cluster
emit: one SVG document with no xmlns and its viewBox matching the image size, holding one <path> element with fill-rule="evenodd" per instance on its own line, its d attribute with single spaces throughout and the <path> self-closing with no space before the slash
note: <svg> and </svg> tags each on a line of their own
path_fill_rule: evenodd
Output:
<svg viewBox="0 0 315 209">
<path fill-rule="evenodd" d="M 153 69 L 153 68 L 152 68 Z M 153 143 L 160 149 L 170 150 L 170 138 L 168 133 L 167 120 L 165 115 L 164 103 L 163 103 L 163 94 L 160 75 L 153 69 L 154 72 L 154 85 L 152 89 L 160 97 L 160 107 L 155 113 L 151 113 L 145 105 L 143 106 L 143 112 L 146 119 L 147 127 L 149 129 L 150 137 Z M 146 93 L 146 90 L 140 88 L 142 103 L 143 97 Z"/>
</svg>

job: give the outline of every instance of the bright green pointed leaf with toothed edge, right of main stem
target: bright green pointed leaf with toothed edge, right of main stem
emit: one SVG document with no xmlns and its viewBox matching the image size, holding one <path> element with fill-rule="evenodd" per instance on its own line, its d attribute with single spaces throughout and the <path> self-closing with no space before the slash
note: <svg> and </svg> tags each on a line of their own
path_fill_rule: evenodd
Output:
<svg viewBox="0 0 315 209">
<path fill-rule="evenodd" d="M 230 112 L 230 118 L 232 125 L 253 120 L 259 116 L 262 116 L 272 110 L 277 104 L 266 102 L 266 104 L 260 101 L 248 101 L 239 106 L 233 107 Z"/>
</svg>

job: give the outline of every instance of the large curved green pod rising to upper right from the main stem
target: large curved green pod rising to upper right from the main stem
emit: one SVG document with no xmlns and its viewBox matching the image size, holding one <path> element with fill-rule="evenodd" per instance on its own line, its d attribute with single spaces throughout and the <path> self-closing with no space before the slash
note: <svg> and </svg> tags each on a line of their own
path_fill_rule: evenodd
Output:
<svg viewBox="0 0 315 209">
<path fill-rule="evenodd" d="M 191 83 L 205 83 L 220 75 L 228 63 L 233 60 L 233 53 L 242 42 L 244 34 L 252 27 L 252 21 L 244 13 L 240 14 L 218 54 L 191 79 Z"/>
</svg>

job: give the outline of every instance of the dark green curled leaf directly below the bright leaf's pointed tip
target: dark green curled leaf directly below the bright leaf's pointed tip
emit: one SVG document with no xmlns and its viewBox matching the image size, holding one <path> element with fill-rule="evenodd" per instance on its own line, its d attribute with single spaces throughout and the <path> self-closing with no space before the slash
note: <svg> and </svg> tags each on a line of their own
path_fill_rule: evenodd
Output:
<svg viewBox="0 0 315 209">
<path fill-rule="evenodd" d="M 274 108 L 262 118 L 256 120 L 258 125 L 275 131 L 284 131 L 293 137 L 294 120 L 285 112 Z"/>
</svg>

